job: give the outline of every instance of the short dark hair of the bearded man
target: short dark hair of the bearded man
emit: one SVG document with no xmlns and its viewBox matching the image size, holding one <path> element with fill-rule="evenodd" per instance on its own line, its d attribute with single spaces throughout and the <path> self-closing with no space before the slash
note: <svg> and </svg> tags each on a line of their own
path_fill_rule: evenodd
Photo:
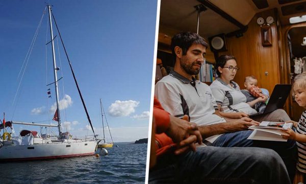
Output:
<svg viewBox="0 0 306 184">
<path fill-rule="evenodd" d="M 205 38 L 202 38 L 200 35 L 192 32 L 183 32 L 177 33 L 171 39 L 171 51 L 173 58 L 176 57 L 174 48 L 176 46 L 180 47 L 183 50 L 183 55 L 187 54 L 188 49 L 192 44 L 201 44 L 204 47 L 208 48 L 208 43 Z"/>
</svg>

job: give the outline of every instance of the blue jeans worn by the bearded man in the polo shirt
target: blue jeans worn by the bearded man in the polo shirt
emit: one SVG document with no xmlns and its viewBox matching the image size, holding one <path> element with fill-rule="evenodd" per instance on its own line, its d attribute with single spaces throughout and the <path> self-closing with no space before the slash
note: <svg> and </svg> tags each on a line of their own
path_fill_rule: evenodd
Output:
<svg viewBox="0 0 306 184">
<path fill-rule="evenodd" d="M 247 140 L 247 137 L 252 133 L 252 130 L 238 131 L 232 133 L 224 133 L 212 144 L 215 147 L 260 147 L 269 148 L 276 151 L 283 159 L 291 182 L 294 180 L 297 148 L 293 140 L 287 142 L 278 141 L 258 141 Z"/>
</svg>

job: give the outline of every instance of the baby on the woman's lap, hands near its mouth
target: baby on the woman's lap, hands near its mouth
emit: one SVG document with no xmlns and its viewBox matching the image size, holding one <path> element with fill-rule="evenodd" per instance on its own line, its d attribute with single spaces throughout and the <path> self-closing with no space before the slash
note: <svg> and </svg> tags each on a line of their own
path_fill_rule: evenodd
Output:
<svg viewBox="0 0 306 184">
<path fill-rule="evenodd" d="M 269 91 L 266 90 L 264 94 L 262 89 L 257 86 L 257 79 L 254 76 L 245 77 L 244 87 L 246 89 L 241 90 L 241 92 L 245 95 L 246 102 L 258 112 L 264 112 L 269 98 Z M 250 102 L 253 103 L 250 104 Z"/>
</svg>

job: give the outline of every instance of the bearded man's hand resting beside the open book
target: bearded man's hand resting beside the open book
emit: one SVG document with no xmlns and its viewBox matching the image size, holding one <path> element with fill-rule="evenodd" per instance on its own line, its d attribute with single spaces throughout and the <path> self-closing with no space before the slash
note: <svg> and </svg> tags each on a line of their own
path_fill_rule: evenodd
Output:
<svg viewBox="0 0 306 184">
<path fill-rule="evenodd" d="M 235 132 L 235 131 L 242 131 L 247 130 L 248 127 L 252 125 L 259 125 L 260 123 L 257 121 L 254 121 L 250 118 L 243 117 L 239 120 L 230 120 L 226 123 L 226 130 L 228 132 Z"/>
</svg>

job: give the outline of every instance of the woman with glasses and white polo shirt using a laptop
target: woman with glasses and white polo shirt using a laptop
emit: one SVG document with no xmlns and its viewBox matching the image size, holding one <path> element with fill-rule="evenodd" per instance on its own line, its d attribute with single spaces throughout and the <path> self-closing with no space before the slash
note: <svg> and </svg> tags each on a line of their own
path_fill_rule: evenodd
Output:
<svg viewBox="0 0 306 184">
<path fill-rule="evenodd" d="M 266 99 L 258 98 L 246 103 L 246 97 L 241 93 L 239 85 L 233 81 L 239 70 L 236 58 L 230 55 L 222 55 L 217 59 L 215 68 L 219 77 L 210 87 L 221 116 L 239 119 L 257 113 L 252 107 L 257 102 L 264 102 Z M 260 114 L 252 117 L 252 119 L 258 122 L 285 122 L 290 120 L 288 114 L 283 109 L 277 109 L 267 114 Z"/>
</svg>

